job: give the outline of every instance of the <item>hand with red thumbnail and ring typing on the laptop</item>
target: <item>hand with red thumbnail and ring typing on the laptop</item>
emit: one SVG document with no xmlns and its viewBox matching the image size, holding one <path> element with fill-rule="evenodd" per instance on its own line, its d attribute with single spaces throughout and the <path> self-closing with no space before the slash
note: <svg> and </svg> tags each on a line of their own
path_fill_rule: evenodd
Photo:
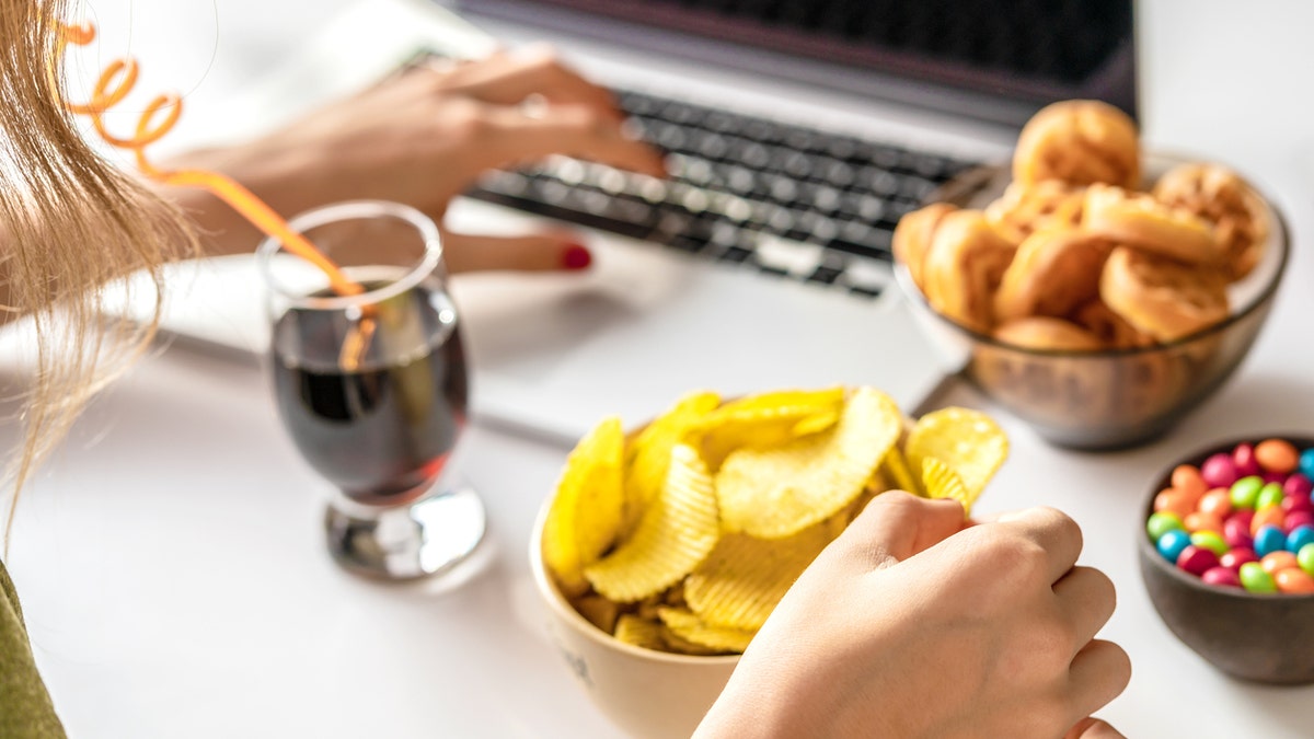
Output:
<svg viewBox="0 0 1314 739">
<path fill-rule="evenodd" d="M 381 199 L 439 224 L 452 197 L 485 170 L 566 154 L 662 176 L 661 155 L 625 137 L 611 95 L 543 47 L 505 51 L 452 68 L 419 64 L 244 146 L 166 163 L 206 168 L 247 185 L 286 217 L 339 200 Z M 171 195 L 208 234 L 208 251 L 250 251 L 260 235 L 222 203 Z M 587 266 L 578 237 L 547 230 L 518 238 L 447 234 L 453 272 Z"/>
</svg>

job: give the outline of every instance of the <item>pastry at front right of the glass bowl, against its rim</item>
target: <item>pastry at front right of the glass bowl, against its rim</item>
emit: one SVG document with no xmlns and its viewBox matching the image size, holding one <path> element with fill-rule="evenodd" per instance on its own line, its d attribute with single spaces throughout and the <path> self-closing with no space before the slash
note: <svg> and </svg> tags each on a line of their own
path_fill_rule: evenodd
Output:
<svg viewBox="0 0 1314 739">
<path fill-rule="evenodd" d="M 1125 246 L 1116 247 L 1104 264 L 1100 297 L 1137 330 L 1160 342 L 1227 318 L 1227 280 L 1217 268 Z"/>
</svg>

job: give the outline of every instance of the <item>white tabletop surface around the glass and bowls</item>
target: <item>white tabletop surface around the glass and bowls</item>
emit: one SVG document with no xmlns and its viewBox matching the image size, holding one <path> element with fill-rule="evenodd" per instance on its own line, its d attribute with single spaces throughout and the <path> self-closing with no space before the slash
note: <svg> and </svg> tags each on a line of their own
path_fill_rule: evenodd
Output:
<svg viewBox="0 0 1314 739">
<path fill-rule="evenodd" d="M 188 85 L 189 114 L 201 116 L 347 0 L 88 5 L 106 34 L 133 29 L 148 74 L 172 54 L 159 74 Z M 1083 561 L 1118 585 L 1104 636 L 1135 669 L 1102 715 L 1129 736 L 1310 736 L 1314 686 L 1213 671 L 1155 615 L 1133 543 L 1137 505 L 1166 460 L 1222 437 L 1314 430 L 1303 243 L 1314 233 L 1314 7 L 1147 0 L 1138 13 L 1147 142 L 1242 167 L 1286 212 L 1294 259 L 1248 360 L 1160 442 L 1067 452 L 997 414 L 1013 451 L 980 510 L 1049 504 L 1081 523 Z M 16 387 L 17 372 L 0 363 L 0 387 Z M 988 408 L 966 389 L 947 400 Z M 4 448 L 16 439 L 0 425 Z M 323 483 L 280 427 L 259 367 L 180 347 L 142 362 L 26 490 L 7 559 L 70 734 L 615 736 L 543 635 L 530 583 L 530 526 L 565 451 L 474 425 L 456 464 L 491 531 L 469 579 L 445 590 L 380 585 L 325 554 Z"/>
</svg>

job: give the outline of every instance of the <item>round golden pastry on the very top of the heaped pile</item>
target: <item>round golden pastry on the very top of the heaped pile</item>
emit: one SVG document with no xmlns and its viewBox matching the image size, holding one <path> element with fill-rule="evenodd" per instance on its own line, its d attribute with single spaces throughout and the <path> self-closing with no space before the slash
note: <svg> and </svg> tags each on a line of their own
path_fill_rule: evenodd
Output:
<svg viewBox="0 0 1314 739">
<path fill-rule="evenodd" d="M 1022 126 L 1013 151 L 1013 181 L 1062 180 L 1076 185 L 1141 185 L 1141 139 L 1130 116 L 1099 100 L 1064 100 Z"/>
</svg>

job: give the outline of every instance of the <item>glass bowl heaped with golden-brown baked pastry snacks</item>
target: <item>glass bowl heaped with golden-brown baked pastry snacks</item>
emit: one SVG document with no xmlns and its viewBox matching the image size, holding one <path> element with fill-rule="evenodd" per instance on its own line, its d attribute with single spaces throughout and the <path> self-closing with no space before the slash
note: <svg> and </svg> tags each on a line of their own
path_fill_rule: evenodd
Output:
<svg viewBox="0 0 1314 739">
<path fill-rule="evenodd" d="M 896 279 L 982 393 L 1058 446 L 1154 439 L 1235 371 L 1290 242 L 1217 163 L 1144 155 L 1096 101 L 1042 109 L 1012 167 L 968 171 L 895 230 Z"/>
</svg>

